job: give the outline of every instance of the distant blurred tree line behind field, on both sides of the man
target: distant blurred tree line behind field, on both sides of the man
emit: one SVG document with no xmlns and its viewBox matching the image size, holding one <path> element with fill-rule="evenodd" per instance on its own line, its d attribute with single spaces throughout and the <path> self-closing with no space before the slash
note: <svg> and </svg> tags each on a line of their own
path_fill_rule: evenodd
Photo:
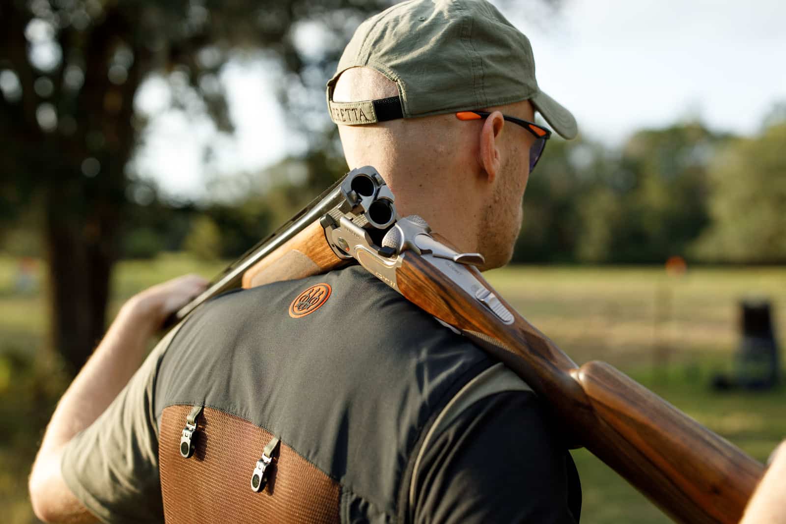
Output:
<svg viewBox="0 0 786 524">
<path fill-rule="evenodd" d="M 679 123 L 641 130 L 620 148 L 557 138 L 527 186 L 513 262 L 659 264 L 680 255 L 703 263 L 784 263 L 784 146 L 786 119 L 766 123 L 755 137 Z M 235 258 L 345 171 L 335 149 L 310 151 L 246 175 L 244 197 L 230 202 L 172 203 L 154 182 L 135 180 L 149 197 L 126 203 L 119 256 L 189 251 Z M 29 217 L 17 222 L 3 245 L 41 255 L 28 234 L 33 228 Z"/>
</svg>

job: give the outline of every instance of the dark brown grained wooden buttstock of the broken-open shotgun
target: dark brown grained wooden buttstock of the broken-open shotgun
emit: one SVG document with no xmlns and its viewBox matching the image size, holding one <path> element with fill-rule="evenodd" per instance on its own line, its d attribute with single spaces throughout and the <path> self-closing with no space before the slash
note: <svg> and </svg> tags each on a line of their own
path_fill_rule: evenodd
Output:
<svg viewBox="0 0 786 524">
<path fill-rule="evenodd" d="M 563 427 L 678 522 L 738 522 L 763 467 L 612 366 L 577 368 L 521 317 L 505 325 L 478 308 L 423 258 L 408 253 L 397 270 L 402 295 L 457 328 L 498 340 L 490 349 L 548 401 Z M 491 288 L 476 272 L 481 282 Z M 517 348 L 512 350 L 510 348 Z"/>
</svg>

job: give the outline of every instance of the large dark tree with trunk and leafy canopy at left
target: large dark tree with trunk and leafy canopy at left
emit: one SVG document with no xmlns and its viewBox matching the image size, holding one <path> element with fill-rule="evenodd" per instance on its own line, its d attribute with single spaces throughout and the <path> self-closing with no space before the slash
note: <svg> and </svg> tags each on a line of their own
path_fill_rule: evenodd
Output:
<svg viewBox="0 0 786 524">
<path fill-rule="evenodd" d="M 125 168 L 144 129 L 134 115 L 134 95 L 141 83 L 149 75 L 164 75 L 177 88 L 173 104 L 196 107 L 220 129 L 229 130 L 216 73 L 230 49 L 265 49 L 292 72 L 283 90 L 290 98 L 292 93 L 314 97 L 314 79 L 324 82 L 329 77 L 354 27 L 387 4 L 0 4 L 0 218 L 12 218 L 40 196 L 52 343 L 72 371 L 83 365 L 105 329 L 109 277 L 128 202 Z M 304 56 L 296 45 L 294 34 L 303 24 L 318 24 L 326 35 L 318 56 Z"/>
</svg>

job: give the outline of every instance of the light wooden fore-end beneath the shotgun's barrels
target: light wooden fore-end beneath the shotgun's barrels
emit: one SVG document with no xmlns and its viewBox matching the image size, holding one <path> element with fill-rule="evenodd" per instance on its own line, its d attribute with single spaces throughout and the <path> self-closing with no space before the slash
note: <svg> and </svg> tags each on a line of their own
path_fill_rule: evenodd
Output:
<svg viewBox="0 0 786 524">
<path fill-rule="evenodd" d="M 243 275 L 243 287 L 310 277 L 345 264 L 330 249 L 325 230 L 317 220 L 249 268 Z"/>
</svg>

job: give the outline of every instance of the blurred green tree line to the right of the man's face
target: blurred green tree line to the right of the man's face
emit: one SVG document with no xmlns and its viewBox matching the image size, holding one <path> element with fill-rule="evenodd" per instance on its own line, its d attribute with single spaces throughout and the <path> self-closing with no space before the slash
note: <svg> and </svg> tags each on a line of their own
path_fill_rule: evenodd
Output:
<svg viewBox="0 0 786 524">
<path fill-rule="evenodd" d="M 621 148 L 549 145 L 524 196 L 516 262 L 786 262 L 786 118 L 755 137 L 701 123 L 641 130 Z"/>
</svg>

